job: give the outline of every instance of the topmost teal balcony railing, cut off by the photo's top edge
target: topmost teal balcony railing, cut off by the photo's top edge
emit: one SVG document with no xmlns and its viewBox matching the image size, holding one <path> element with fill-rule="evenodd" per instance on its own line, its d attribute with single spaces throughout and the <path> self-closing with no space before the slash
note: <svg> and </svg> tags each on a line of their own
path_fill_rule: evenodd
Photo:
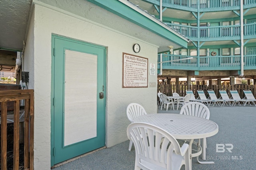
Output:
<svg viewBox="0 0 256 170">
<path fill-rule="evenodd" d="M 160 0 L 144 0 L 159 5 Z M 240 0 L 162 0 L 162 6 L 190 12 L 240 10 Z M 244 9 L 256 7 L 256 0 L 243 0 Z"/>
</svg>

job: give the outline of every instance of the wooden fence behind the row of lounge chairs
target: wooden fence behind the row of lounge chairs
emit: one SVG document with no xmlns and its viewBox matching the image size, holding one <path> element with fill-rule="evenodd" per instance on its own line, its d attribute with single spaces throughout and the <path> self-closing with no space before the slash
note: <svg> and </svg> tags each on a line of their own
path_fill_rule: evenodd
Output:
<svg viewBox="0 0 256 170">
<path fill-rule="evenodd" d="M 240 97 L 244 98 L 243 90 L 251 90 L 252 94 L 256 96 L 256 85 L 246 85 L 246 84 L 235 84 L 235 85 L 186 85 L 186 84 L 158 84 L 158 91 L 166 94 L 167 96 L 172 96 L 174 92 L 180 94 L 180 96 L 186 95 L 186 90 L 192 90 L 194 92 L 195 98 L 198 98 L 197 90 L 204 90 L 206 97 L 208 97 L 207 90 L 214 90 L 217 98 L 220 98 L 219 90 L 226 90 L 228 96 L 231 97 L 230 90 L 237 90 Z"/>
</svg>

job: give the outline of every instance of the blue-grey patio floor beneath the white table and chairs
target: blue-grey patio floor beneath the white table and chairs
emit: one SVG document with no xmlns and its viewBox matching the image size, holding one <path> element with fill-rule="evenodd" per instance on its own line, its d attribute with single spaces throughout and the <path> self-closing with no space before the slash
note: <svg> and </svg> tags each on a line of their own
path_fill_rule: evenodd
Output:
<svg viewBox="0 0 256 170">
<path fill-rule="evenodd" d="M 215 164 L 199 164 L 196 158 L 192 158 L 192 169 L 256 169 L 256 107 L 214 106 L 208 108 L 210 109 L 210 120 L 219 126 L 219 132 L 206 139 L 206 161 L 214 161 Z M 158 113 L 178 114 L 179 111 L 180 109 L 178 111 L 159 109 Z M 216 144 L 226 145 L 225 150 L 220 148 L 216 150 Z M 53 170 L 132 170 L 134 169 L 135 150 L 132 147 L 132 150 L 128 151 L 128 145 L 129 141 L 125 141 L 114 147 L 100 149 L 53 168 Z M 231 149 L 232 146 L 233 149 Z M 182 167 L 183 169 L 185 168 Z"/>
</svg>

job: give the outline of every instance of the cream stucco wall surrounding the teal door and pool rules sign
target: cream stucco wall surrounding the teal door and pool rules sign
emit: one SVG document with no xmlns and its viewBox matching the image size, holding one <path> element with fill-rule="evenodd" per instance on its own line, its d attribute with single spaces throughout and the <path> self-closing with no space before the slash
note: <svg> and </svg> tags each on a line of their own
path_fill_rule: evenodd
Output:
<svg viewBox="0 0 256 170">
<path fill-rule="evenodd" d="M 34 24 L 34 36 L 32 33 Z M 132 45 L 139 43 L 140 53 L 148 58 L 148 64 L 157 64 L 157 47 L 134 37 L 108 29 L 103 25 L 80 20 L 46 7 L 35 4 L 34 21 L 30 23 L 31 53 L 34 60 L 30 72 L 34 80 L 34 168 L 50 169 L 50 131 L 51 131 L 51 36 L 52 34 L 70 37 L 106 47 L 106 146 L 111 147 L 128 140 L 126 128 L 130 123 L 126 117 L 126 107 L 131 102 L 144 106 L 147 113 L 156 113 L 157 75 L 150 76 L 148 69 L 148 88 L 122 88 L 122 53 L 134 54 Z M 34 40 L 33 40 L 34 37 Z M 26 66 L 28 69 L 28 66 Z M 128 146 L 127 146 L 128 149 Z"/>
</svg>

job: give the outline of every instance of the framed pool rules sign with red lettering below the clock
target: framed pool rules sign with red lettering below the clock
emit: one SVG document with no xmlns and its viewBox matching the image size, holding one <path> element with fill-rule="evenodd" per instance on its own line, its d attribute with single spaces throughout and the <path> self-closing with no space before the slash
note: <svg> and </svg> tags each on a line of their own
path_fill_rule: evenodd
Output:
<svg viewBox="0 0 256 170">
<path fill-rule="evenodd" d="M 148 87 L 148 59 L 123 53 L 123 88 Z"/>
</svg>

